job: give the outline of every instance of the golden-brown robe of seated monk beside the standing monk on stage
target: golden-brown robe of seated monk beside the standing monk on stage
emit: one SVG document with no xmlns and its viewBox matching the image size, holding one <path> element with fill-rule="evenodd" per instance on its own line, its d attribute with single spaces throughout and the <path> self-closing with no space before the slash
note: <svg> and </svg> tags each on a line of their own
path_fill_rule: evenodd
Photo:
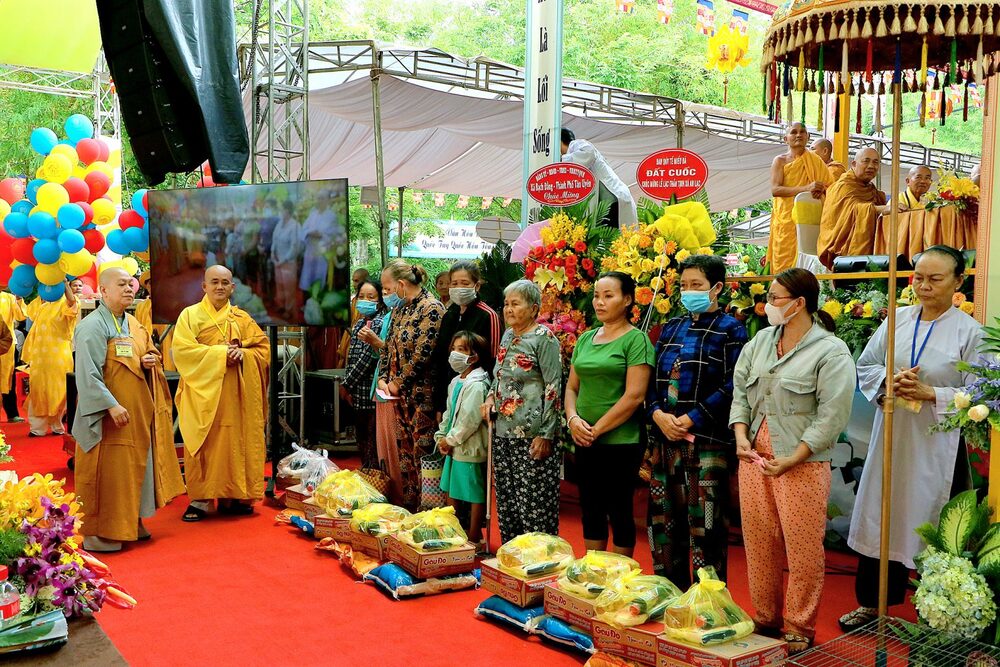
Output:
<svg viewBox="0 0 1000 667">
<path fill-rule="evenodd" d="M 877 207 L 885 195 L 872 183 L 862 183 L 849 171 L 826 191 L 816 249 L 823 266 L 842 255 L 870 255 L 875 245 Z"/>
</svg>

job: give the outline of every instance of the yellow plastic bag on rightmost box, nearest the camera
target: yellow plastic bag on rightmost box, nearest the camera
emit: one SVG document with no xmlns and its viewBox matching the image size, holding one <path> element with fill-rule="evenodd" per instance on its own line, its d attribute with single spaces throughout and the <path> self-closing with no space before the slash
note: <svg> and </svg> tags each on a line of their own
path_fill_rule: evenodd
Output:
<svg viewBox="0 0 1000 667">
<path fill-rule="evenodd" d="M 698 570 L 698 583 L 667 607 L 663 622 L 671 639 L 698 646 L 742 639 L 753 632 L 753 621 L 733 602 L 712 567 Z"/>
</svg>

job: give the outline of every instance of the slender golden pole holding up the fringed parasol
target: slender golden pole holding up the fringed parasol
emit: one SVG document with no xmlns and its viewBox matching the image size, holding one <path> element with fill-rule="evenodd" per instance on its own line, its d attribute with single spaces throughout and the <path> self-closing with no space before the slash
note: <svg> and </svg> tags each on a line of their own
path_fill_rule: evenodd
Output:
<svg viewBox="0 0 1000 667">
<path fill-rule="evenodd" d="M 892 516 L 892 421 L 895 411 L 895 392 L 892 389 L 892 378 L 895 375 L 896 364 L 896 256 L 898 252 L 899 234 L 899 132 L 902 124 L 903 84 L 896 81 L 892 85 L 892 199 L 889 213 L 889 309 L 886 320 L 888 343 L 885 349 L 885 403 L 882 411 L 885 414 L 884 436 L 882 444 L 882 517 L 881 537 L 879 539 L 878 564 L 878 613 L 885 616 L 889 611 L 889 520 Z"/>
</svg>

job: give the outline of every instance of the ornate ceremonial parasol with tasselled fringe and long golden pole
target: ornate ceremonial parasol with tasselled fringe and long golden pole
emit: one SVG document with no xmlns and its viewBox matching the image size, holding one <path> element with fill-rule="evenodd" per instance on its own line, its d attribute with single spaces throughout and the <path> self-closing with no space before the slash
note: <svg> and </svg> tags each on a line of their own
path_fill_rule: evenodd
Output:
<svg viewBox="0 0 1000 667">
<path fill-rule="evenodd" d="M 892 113 L 892 199 L 899 188 L 899 129 L 904 92 L 926 95 L 928 71 L 945 75 L 945 85 L 988 85 L 1000 63 L 1000 2 L 925 2 L 897 0 L 786 0 L 774 14 L 761 68 L 764 99 L 771 116 L 781 118 L 787 97 L 793 117 L 794 94 L 880 94 L 890 75 Z M 939 84 L 938 76 L 934 85 Z M 942 100 L 947 95 L 942 95 Z M 984 96 L 985 97 L 985 96 Z M 839 98 L 838 98 L 839 100 Z M 926 100 L 921 105 L 926 114 Z M 984 114 L 990 112 L 984 107 Z M 992 110 L 995 111 L 995 110 Z M 821 114 L 822 117 L 822 114 Z M 839 119 L 840 114 L 836 114 Z M 942 122 L 944 114 L 941 114 Z M 804 116 L 803 116 L 804 120 Z M 923 121 L 923 116 L 921 117 Z M 898 211 L 892 208 L 889 248 L 897 247 Z M 886 368 L 894 369 L 896 262 L 889 262 L 889 314 Z M 893 387 L 886 383 L 885 458 L 882 467 L 882 535 L 879 614 L 885 615 L 891 512 Z"/>
</svg>

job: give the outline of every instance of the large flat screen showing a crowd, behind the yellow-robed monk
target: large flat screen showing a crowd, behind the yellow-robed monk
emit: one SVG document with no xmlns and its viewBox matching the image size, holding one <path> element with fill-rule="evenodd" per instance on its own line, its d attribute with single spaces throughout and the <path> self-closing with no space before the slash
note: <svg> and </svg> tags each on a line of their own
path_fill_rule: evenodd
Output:
<svg viewBox="0 0 1000 667">
<path fill-rule="evenodd" d="M 346 179 L 150 190 L 153 320 L 176 322 L 221 264 L 262 326 L 349 326 L 347 212 Z"/>
</svg>

